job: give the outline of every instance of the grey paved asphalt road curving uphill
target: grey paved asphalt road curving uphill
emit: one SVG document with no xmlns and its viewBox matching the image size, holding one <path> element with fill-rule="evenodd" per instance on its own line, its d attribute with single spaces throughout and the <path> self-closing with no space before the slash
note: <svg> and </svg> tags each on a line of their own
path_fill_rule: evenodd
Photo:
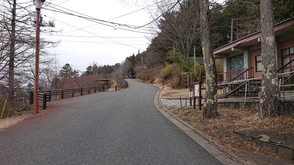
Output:
<svg viewBox="0 0 294 165">
<path fill-rule="evenodd" d="M 48 102 L 47 113 L 0 131 L 0 165 L 221 165 L 154 105 L 157 88 Z"/>
</svg>

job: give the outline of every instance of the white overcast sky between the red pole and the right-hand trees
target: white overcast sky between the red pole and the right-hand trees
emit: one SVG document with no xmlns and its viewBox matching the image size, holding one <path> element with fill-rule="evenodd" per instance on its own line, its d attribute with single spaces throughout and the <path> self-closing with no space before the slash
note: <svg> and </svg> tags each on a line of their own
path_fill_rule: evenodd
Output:
<svg viewBox="0 0 294 165">
<path fill-rule="evenodd" d="M 134 4 L 130 1 L 126 4 L 122 0 L 57 0 L 57 2 L 52 0 L 49 6 L 42 5 L 44 8 L 41 9 L 41 14 L 45 22 L 49 20 L 55 22 L 53 30 L 62 30 L 62 33 L 54 36 L 41 33 L 41 37 L 61 41 L 58 47 L 50 49 L 51 52 L 58 54 L 60 66 L 69 63 L 74 69 L 85 71 L 92 62 L 97 62 L 98 65 L 121 63 L 133 53 L 136 55 L 138 50 L 140 52 L 146 50 L 150 44 L 146 38 L 150 34 L 144 33 L 150 33 L 149 31 L 119 25 L 142 26 L 150 22 L 148 10 L 142 8 L 152 3 L 146 4 L 147 0 L 137 0 L 137 2 L 138 4 Z M 58 12 L 50 11 L 57 9 Z M 60 10 L 117 24 L 89 21 L 60 13 Z"/>
</svg>

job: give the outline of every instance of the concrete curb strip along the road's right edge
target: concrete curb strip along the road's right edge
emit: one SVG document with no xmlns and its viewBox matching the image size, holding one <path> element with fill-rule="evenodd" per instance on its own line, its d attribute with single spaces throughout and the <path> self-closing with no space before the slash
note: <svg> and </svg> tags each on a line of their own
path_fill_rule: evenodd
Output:
<svg viewBox="0 0 294 165">
<path fill-rule="evenodd" d="M 159 98 L 159 94 L 160 94 L 160 89 L 158 89 L 158 92 L 154 98 L 154 103 L 155 103 L 155 99 L 157 98 L 158 103 L 161 105 L 161 107 L 163 107 L 163 109 L 173 118 L 175 118 L 176 120 L 178 120 L 179 122 L 181 122 L 183 125 L 187 126 L 188 128 L 190 128 L 191 130 L 194 131 L 194 133 L 201 135 L 204 139 L 206 139 L 207 141 L 210 141 L 212 144 L 216 145 L 221 151 L 225 152 L 226 154 L 228 154 L 232 159 L 234 159 L 235 161 L 243 164 L 243 165 L 249 165 L 247 162 L 245 162 L 242 158 L 238 157 L 236 154 L 232 153 L 231 151 L 227 150 L 224 146 L 222 146 L 221 144 L 217 143 L 216 141 L 210 139 L 208 136 L 206 136 L 205 134 L 203 134 L 202 132 L 200 132 L 198 129 L 190 126 L 189 124 L 187 124 L 185 121 L 181 120 L 180 118 L 177 118 L 175 115 L 173 115 L 171 112 L 169 112 L 167 110 L 167 108 L 161 103 L 160 98 Z"/>
</svg>

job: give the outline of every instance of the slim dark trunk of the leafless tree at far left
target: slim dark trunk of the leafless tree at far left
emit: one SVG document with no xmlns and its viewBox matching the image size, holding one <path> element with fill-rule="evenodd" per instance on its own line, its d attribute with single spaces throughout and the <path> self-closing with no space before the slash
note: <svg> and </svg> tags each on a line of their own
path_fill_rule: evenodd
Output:
<svg viewBox="0 0 294 165">
<path fill-rule="evenodd" d="M 14 98 L 15 14 L 16 14 L 16 0 L 13 0 L 11 34 L 10 34 L 10 52 L 9 52 L 9 64 L 8 64 L 8 69 L 9 69 L 8 97 L 10 100 Z"/>
</svg>

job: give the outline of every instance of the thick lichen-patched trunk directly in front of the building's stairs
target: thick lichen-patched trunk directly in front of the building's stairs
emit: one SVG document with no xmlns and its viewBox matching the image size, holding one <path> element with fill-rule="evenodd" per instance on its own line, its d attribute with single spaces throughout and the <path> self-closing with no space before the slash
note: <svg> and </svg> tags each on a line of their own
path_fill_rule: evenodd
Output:
<svg viewBox="0 0 294 165">
<path fill-rule="evenodd" d="M 262 49 L 262 86 L 260 98 L 260 117 L 281 115 L 281 97 L 277 76 L 276 43 L 272 4 L 270 0 L 260 1 L 261 11 L 261 49 Z"/>
</svg>

